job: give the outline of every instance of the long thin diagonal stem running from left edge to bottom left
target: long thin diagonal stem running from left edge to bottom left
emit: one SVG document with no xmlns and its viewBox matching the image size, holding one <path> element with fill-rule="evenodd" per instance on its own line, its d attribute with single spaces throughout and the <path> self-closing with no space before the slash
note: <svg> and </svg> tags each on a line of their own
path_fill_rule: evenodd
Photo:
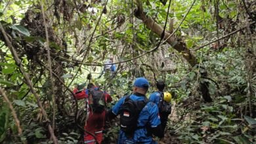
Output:
<svg viewBox="0 0 256 144">
<path fill-rule="evenodd" d="M 58 140 L 56 139 L 55 135 L 54 135 L 54 132 L 53 132 L 53 128 L 51 126 L 51 124 L 49 124 L 50 120 L 49 118 L 47 117 L 47 113 L 45 111 L 45 109 L 43 109 L 43 106 L 42 106 L 42 103 L 39 99 L 39 96 L 38 94 L 35 92 L 35 89 L 33 88 L 33 84 L 32 84 L 32 81 L 30 81 L 30 77 L 28 76 L 28 74 L 26 73 L 23 65 L 22 65 L 22 62 L 20 60 L 20 58 L 18 58 L 18 54 L 16 52 L 16 50 L 14 49 L 14 47 L 12 46 L 12 43 L 9 39 L 9 37 L 7 37 L 7 33 L 5 32 L 5 29 L 3 29 L 3 26 L 0 22 L 0 29 L 1 29 L 1 32 L 3 33 L 3 37 L 5 37 L 5 42 L 7 43 L 7 46 L 9 47 L 9 49 L 11 50 L 11 54 L 16 62 L 16 65 L 18 67 L 20 67 L 20 71 L 22 72 L 22 74 L 24 75 L 24 78 L 26 79 L 26 83 L 28 84 L 28 86 L 30 87 L 30 90 L 32 91 L 33 95 L 35 96 L 35 99 L 37 100 L 37 105 L 39 106 L 39 108 L 41 109 L 41 113 L 43 115 L 43 117 L 45 118 L 45 120 L 48 122 L 48 130 L 49 130 L 49 133 L 51 134 L 51 138 L 53 139 L 53 143 L 54 144 L 57 144 L 58 143 Z"/>
</svg>

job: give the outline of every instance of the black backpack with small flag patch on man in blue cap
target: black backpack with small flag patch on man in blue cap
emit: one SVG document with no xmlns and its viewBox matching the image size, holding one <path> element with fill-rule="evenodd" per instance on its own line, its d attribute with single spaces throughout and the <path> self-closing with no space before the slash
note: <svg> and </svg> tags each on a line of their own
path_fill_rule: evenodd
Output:
<svg viewBox="0 0 256 144">
<path fill-rule="evenodd" d="M 132 137 L 135 130 L 138 129 L 137 121 L 139 114 L 147 102 L 148 99 L 144 99 L 143 101 L 133 101 L 130 96 L 125 98 L 125 101 L 119 110 L 120 128 L 125 132 L 125 135 Z"/>
</svg>

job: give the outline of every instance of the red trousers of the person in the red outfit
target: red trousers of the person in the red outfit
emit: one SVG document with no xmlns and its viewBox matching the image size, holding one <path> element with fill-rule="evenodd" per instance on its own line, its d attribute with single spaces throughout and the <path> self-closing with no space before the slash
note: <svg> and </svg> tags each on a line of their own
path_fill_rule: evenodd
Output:
<svg viewBox="0 0 256 144">
<path fill-rule="evenodd" d="M 105 116 L 106 111 L 102 113 L 92 113 L 90 111 L 89 118 L 85 124 L 84 143 L 94 144 L 95 141 L 97 141 L 97 143 L 100 144 L 102 142 L 102 130 L 104 129 Z"/>
</svg>

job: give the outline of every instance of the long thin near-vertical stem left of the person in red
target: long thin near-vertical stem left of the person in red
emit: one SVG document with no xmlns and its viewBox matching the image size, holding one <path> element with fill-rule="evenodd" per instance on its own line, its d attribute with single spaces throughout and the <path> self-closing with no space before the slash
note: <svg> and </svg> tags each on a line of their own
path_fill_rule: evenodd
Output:
<svg viewBox="0 0 256 144">
<path fill-rule="evenodd" d="M 51 79 L 51 91 L 52 91 L 52 98 L 53 98 L 53 131 L 55 128 L 55 115 L 56 115 L 56 109 L 55 109 L 55 95 L 54 95 L 54 83 L 53 83 L 53 73 L 52 73 L 52 62 L 51 62 L 51 55 L 50 55 L 50 46 L 49 46 L 49 35 L 47 30 L 47 24 L 45 20 L 45 11 L 43 9 L 43 0 L 41 0 L 41 10 L 42 10 L 42 16 L 43 16 L 43 25 L 45 25 L 45 37 L 46 37 L 46 48 L 47 48 L 47 57 L 48 57 L 48 67 L 49 67 L 49 73 L 50 73 L 50 79 Z"/>
</svg>

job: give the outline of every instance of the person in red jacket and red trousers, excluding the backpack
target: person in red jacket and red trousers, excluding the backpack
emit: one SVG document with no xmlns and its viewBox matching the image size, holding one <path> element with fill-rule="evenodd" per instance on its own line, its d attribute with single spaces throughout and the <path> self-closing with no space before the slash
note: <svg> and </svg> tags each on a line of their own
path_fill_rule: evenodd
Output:
<svg viewBox="0 0 256 144">
<path fill-rule="evenodd" d="M 90 90 L 99 90 L 98 87 L 96 87 L 93 83 L 89 83 L 86 90 L 83 90 L 79 93 L 79 95 L 75 94 L 75 98 L 77 99 L 85 99 L 85 105 L 87 107 L 87 120 L 85 122 L 85 132 L 84 132 L 84 143 L 94 144 L 96 143 L 100 144 L 102 143 L 102 130 L 104 129 L 105 125 L 105 115 L 106 115 L 106 109 L 100 113 L 94 113 L 92 107 L 89 105 L 92 104 L 92 101 L 90 100 Z M 105 103 L 110 103 L 112 101 L 112 98 L 110 94 L 108 94 L 105 91 L 100 90 L 104 94 L 104 101 Z"/>
</svg>

